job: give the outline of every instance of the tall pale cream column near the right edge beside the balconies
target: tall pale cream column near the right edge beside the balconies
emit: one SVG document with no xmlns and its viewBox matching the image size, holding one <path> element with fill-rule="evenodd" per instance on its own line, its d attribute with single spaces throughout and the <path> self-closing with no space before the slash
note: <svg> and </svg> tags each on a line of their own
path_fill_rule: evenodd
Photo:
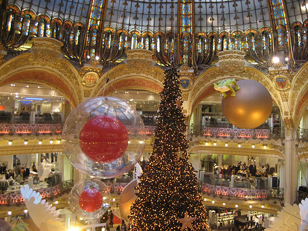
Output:
<svg viewBox="0 0 308 231">
<path fill-rule="evenodd" d="M 285 203 L 294 204 L 297 190 L 296 129 L 285 119 Z"/>
</svg>

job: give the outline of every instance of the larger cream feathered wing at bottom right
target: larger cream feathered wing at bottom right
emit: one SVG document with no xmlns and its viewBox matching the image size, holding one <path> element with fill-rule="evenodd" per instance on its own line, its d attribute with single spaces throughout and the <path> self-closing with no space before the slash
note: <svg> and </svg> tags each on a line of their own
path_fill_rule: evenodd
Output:
<svg viewBox="0 0 308 231">
<path fill-rule="evenodd" d="M 272 221 L 270 228 L 266 228 L 266 231 L 298 231 L 300 221 L 300 208 L 298 205 L 285 204 L 285 207 L 278 212 L 277 217 Z"/>
</svg>

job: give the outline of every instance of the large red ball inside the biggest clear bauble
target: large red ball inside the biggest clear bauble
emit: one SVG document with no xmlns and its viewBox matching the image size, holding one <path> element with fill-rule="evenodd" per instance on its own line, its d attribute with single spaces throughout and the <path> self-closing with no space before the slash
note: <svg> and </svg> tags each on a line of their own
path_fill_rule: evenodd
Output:
<svg viewBox="0 0 308 231">
<path fill-rule="evenodd" d="M 125 125 L 105 115 L 90 119 L 79 134 L 81 150 L 88 158 L 99 163 L 112 162 L 122 156 L 128 141 Z"/>
</svg>

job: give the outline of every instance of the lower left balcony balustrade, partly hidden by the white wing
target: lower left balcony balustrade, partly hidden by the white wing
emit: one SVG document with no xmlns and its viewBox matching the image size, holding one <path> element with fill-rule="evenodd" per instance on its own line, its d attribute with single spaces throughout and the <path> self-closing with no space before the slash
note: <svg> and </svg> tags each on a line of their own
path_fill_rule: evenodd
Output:
<svg viewBox="0 0 308 231">
<path fill-rule="evenodd" d="M 34 190 L 40 193 L 42 199 L 52 199 L 54 197 L 58 197 L 63 193 L 67 193 L 70 189 L 73 188 L 73 180 L 66 180 L 61 182 L 61 184 L 57 184 L 51 188 L 46 189 L 35 189 Z M 18 205 L 24 204 L 23 195 L 21 195 L 20 191 L 14 193 L 1 193 L 0 194 L 0 205 Z"/>
</svg>

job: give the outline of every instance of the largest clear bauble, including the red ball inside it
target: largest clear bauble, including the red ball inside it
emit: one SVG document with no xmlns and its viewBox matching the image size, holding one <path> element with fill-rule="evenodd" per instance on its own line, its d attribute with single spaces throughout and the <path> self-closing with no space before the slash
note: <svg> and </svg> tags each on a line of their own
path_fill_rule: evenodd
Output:
<svg viewBox="0 0 308 231">
<path fill-rule="evenodd" d="M 94 97 L 66 119 L 62 145 L 79 171 L 96 178 L 123 175 L 140 159 L 146 140 L 140 114 L 116 97 Z"/>
</svg>

